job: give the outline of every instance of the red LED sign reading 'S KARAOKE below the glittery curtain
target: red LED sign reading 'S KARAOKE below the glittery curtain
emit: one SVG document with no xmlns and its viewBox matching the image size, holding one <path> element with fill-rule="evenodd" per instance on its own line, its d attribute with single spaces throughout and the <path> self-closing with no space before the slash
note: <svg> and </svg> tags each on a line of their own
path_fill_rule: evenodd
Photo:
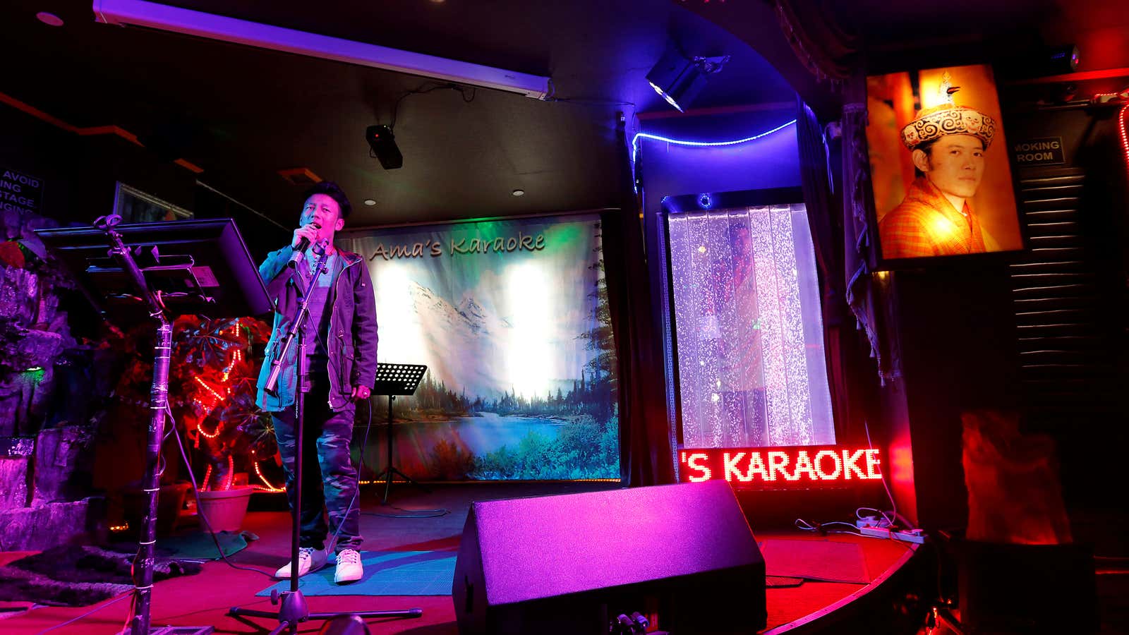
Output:
<svg viewBox="0 0 1129 635">
<path fill-rule="evenodd" d="M 874 447 L 704 447 L 679 450 L 679 481 L 725 479 L 751 489 L 847 487 L 882 479 Z"/>
</svg>

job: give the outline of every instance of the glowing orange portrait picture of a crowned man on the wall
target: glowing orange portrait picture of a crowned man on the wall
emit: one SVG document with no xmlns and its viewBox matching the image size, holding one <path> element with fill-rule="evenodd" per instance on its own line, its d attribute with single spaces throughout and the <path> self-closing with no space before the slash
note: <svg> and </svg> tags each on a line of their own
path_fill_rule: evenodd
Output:
<svg viewBox="0 0 1129 635">
<path fill-rule="evenodd" d="M 1024 249 L 990 66 L 867 77 L 867 111 L 882 261 Z"/>
</svg>

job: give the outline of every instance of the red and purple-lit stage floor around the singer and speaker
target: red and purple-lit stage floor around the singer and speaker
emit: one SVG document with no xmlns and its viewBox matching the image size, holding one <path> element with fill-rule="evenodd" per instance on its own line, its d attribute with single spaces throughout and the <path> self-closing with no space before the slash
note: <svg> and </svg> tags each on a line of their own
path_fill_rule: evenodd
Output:
<svg viewBox="0 0 1129 635">
<path fill-rule="evenodd" d="M 409 485 L 394 484 L 390 505 L 380 505 L 383 487 L 362 488 L 361 534 L 364 550 L 373 551 L 456 551 L 472 501 L 513 498 L 519 496 L 571 494 L 612 489 L 619 484 L 558 482 L 558 484 L 460 484 L 437 485 L 425 493 Z M 256 495 L 259 496 L 259 495 Z M 392 517 L 411 515 L 405 511 L 446 510 L 435 517 Z M 379 515 L 377 515 L 379 514 Z M 861 555 L 861 575 L 868 582 L 881 581 L 904 565 L 910 550 L 904 543 L 891 540 L 858 538 L 848 534 L 819 537 L 799 530 L 758 528 L 753 532 L 763 549 L 787 550 L 791 540 L 815 540 L 857 545 Z M 289 558 L 289 514 L 286 512 L 251 512 L 244 529 L 259 536 L 246 549 L 230 559 L 236 564 L 273 572 Z M 772 541 L 771 545 L 768 541 Z M 158 542 L 159 543 L 159 542 Z M 847 547 L 846 545 L 842 547 Z M 849 551 L 850 549 L 848 549 Z M 11 559 L 0 554 L 0 564 Z M 803 568 L 812 563 L 797 564 Z M 770 574 L 771 571 L 770 563 Z M 786 572 L 787 573 L 787 572 Z M 848 572 L 851 573 L 851 572 Z M 837 602 L 844 604 L 864 595 L 875 584 L 805 581 L 798 586 L 770 586 L 768 589 L 768 628 L 782 633 L 803 624 L 805 618 L 826 612 Z M 777 580 L 778 584 L 788 581 Z M 152 593 L 152 625 L 216 627 L 217 633 L 253 634 L 271 629 L 277 623 L 270 619 L 234 618 L 226 615 L 231 606 L 271 610 L 270 599 L 256 597 L 272 583 L 265 576 L 230 568 L 222 562 L 207 563 L 198 575 L 174 577 L 158 582 Z M 456 635 L 455 611 L 449 595 L 313 595 L 307 598 L 312 611 L 395 610 L 419 607 L 423 616 L 418 619 L 370 620 L 374 634 L 404 633 L 415 635 Z M 103 602 L 106 604 L 113 600 Z M 73 624 L 51 630 L 54 634 L 111 634 L 122 629 L 129 610 L 129 600 L 107 606 Z M 38 607 L 0 619 L 0 630 L 11 634 L 40 633 L 69 619 L 81 616 L 96 607 L 62 608 Z M 2 617 L 3 614 L 0 614 Z M 261 627 L 261 628 L 256 628 Z M 317 623 L 308 623 L 301 633 L 316 633 Z"/>
</svg>

